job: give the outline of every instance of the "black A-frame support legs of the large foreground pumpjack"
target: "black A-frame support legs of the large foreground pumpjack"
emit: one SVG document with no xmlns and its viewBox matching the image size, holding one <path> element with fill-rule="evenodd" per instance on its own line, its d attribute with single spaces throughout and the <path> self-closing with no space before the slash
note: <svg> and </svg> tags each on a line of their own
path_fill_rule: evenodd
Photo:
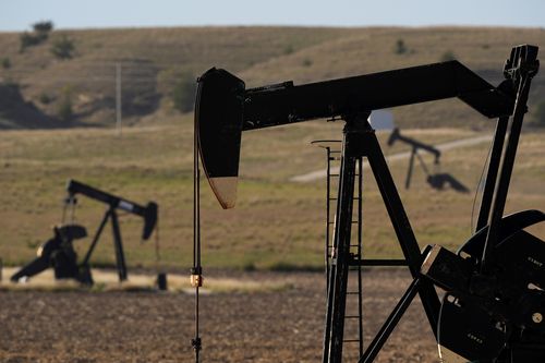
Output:
<svg viewBox="0 0 545 363">
<path fill-rule="evenodd" d="M 409 303 L 416 293 L 421 297 L 434 334 L 439 314 L 440 302 L 433 285 L 426 280 L 419 279 L 419 271 L 423 257 L 374 130 L 367 122 L 367 116 L 368 114 L 359 114 L 355 118 L 348 119 L 343 131 L 344 136 L 336 213 L 337 222 L 335 226 L 334 239 L 335 256 L 328 276 L 329 290 L 326 329 L 324 332 L 324 363 L 342 362 L 355 165 L 361 157 L 367 157 L 370 161 L 399 244 L 405 257 L 407 265 L 415 279 L 415 282 L 411 285 L 408 293 L 405 293 L 399 302 L 391 318 L 388 319 L 389 324 L 385 325 L 380 336 L 377 337 L 371 346 L 370 349 L 372 350 L 367 351 L 362 356 L 364 360 L 361 362 L 368 363 L 373 361 L 382 344 L 384 344 L 393 329 L 393 326 L 399 322 L 407 306 L 409 306 Z"/>
</svg>

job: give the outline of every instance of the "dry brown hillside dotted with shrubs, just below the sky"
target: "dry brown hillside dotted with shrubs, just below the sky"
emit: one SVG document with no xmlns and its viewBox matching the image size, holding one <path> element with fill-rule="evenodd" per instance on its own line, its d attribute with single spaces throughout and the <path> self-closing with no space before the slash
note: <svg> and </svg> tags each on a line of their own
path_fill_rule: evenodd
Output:
<svg viewBox="0 0 545 363">
<path fill-rule="evenodd" d="M 545 46 L 541 28 L 465 27 L 177 27 L 53 31 L 40 45 L 20 51 L 16 33 L 0 34 L 0 81 L 20 86 L 24 100 L 58 118 L 68 98 L 70 123 L 112 124 L 116 118 L 116 65 L 121 66 L 123 119 L 128 123 L 172 123 L 177 86 L 210 66 L 221 66 L 247 86 L 296 83 L 376 72 L 457 58 L 497 84 L 513 45 Z M 66 36 L 71 59 L 58 60 L 51 44 Z M 398 43 L 402 43 L 402 47 Z M 4 60 L 9 61 L 5 62 Z M 9 64 L 7 64 L 9 63 Z M 8 65 L 8 66 L 7 66 Z M 191 94 L 191 86 L 187 92 Z M 186 93 L 186 94 L 187 94 Z M 187 98 L 186 94 L 179 97 Z M 545 75 L 533 84 L 533 102 L 545 100 Z M 532 104 L 530 104 L 532 111 Z M 1 112 L 2 110 L 0 110 Z M 488 124 L 456 100 L 395 110 L 401 126 Z M 445 119 L 448 117 L 448 119 Z M 17 125 L 16 119 L 5 123 Z M 7 128 L 2 123 L 2 128 Z M 19 124 L 39 128 L 39 123 Z M 49 123 L 45 123 L 45 128 Z"/>
</svg>

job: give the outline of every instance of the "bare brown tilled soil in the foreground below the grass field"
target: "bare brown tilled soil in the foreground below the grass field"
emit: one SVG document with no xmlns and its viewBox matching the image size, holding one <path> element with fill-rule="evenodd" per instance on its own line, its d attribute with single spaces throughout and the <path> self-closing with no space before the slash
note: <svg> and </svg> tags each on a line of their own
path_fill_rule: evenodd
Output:
<svg viewBox="0 0 545 363">
<path fill-rule="evenodd" d="M 233 275 L 232 273 L 230 275 Z M 319 362 L 325 312 L 318 273 L 246 273 L 293 288 L 201 297 L 202 362 Z M 405 269 L 364 278 L 366 341 L 410 283 Z M 354 308 L 349 303 L 348 314 Z M 348 323 L 346 338 L 355 334 Z M 157 292 L 0 292 L 0 362 L 194 362 L 194 295 Z M 347 343 L 346 362 L 356 362 Z M 377 362 L 438 362 L 416 299 Z"/>
</svg>

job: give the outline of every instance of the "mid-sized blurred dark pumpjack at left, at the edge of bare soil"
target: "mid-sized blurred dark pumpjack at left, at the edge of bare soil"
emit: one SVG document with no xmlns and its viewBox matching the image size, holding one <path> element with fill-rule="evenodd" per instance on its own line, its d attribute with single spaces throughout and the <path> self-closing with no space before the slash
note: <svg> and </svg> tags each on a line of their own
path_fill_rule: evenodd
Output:
<svg viewBox="0 0 545 363">
<path fill-rule="evenodd" d="M 68 196 L 64 199 L 62 225 L 55 227 L 53 237 L 38 249 L 38 257 L 14 274 L 11 277 L 11 280 L 14 282 L 24 281 L 51 267 L 55 269 L 55 277 L 57 279 L 70 278 L 84 285 L 93 285 L 89 261 L 108 220 L 111 221 L 112 227 L 119 280 L 126 280 L 128 273 L 118 210 L 133 214 L 144 219 L 142 240 L 145 241 L 149 239 L 157 225 L 157 204 L 155 202 L 149 202 L 144 207 L 75 180 L 69 181 L 66 191 Z M 87 230 L 83 226 L 73 223 L 73 211 L 77 202 L 76 195 L 85 195 L 86 197 L 101 202 L 108 206 L 95 237 L 93 238 L 89 249 L 87 250 L 83 261 L 80 263 L 77 262 L 77 255 L 73 243 L 75 240 L 87 237 Z M 71 208 L 72 210 L 71 223 L 64 223 L 66 215 L 65 211 L 68 208 Z"/>
</svg>

